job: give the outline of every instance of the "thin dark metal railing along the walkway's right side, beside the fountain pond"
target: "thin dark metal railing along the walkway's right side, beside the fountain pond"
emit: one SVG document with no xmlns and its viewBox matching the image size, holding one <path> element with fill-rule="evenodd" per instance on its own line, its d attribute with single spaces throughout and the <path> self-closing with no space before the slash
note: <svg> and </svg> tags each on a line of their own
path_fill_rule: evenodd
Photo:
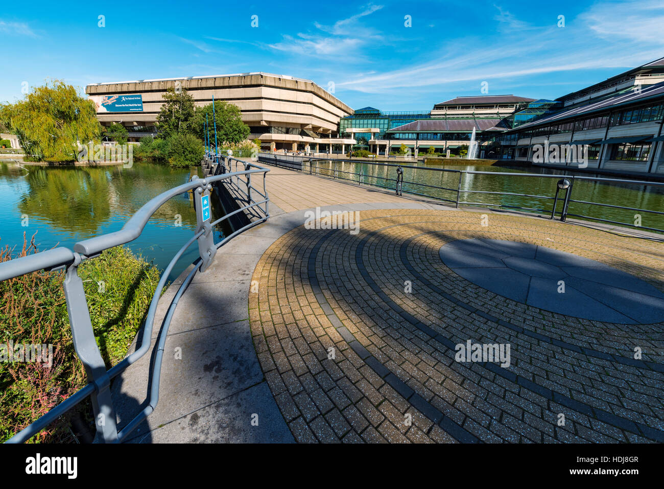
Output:
<svg viewBox="0 0 664 489">
<path fill-rule="evenodd" d="M 278 155 L 259 155 L 259 161 L 264 161 L 265 163 L 272 163 L 274 159 L 279 159 Z M 343 163 L 353 163 L 359 165 L 360 171 L 349 171 L 349 169 L 343 169 Z M 393 169 L 394 173 L 391 173 L 390 176 L 377 176 L 369 171 L 364 171 L 365 166 L 373 168 L 386 168 Z M 296 169 L 296 168 L 294 168 Z M 423 183 L 422 181 L 414 181 L 412 179 L 404 179 L 404 169 L 416 170 L 418 172 L 432 172 L 432 173 L 453 173 L 458 175 L 458 179 L 455 181 L 455 188 L 445 187 L 444 185 L 432 185 L 430 183 Z M 664 183 L 655 182 L 655 181 L 640 181 L 640 180 L 625 180 L 625 179 L 615 179 L 615 178 L 602 178 L 602 177 L 586 177 L 586 176 L 575 176 L 575 175 L 546 175 L 542 173 L 517 173 L 517 172 L 502 172 L 502 171 L 471 171 L 471 170 L 457 170 L 457 169 L 448 169 L 448 168 L 432 168 L 414 165 L 403 165 L 396 163 L 383 163 L 378 161 L 357 161 L 353 159 L 327 159 L 327 158 L 317 158 L 317 157 L 304 157 L 301 159 L 301 169 L 303 173 L 309 173 L 310 175 L 317 175 L 320 177 L 327 177 L 331 179 L 339 179 L 344 181 L 349 181 L 352 183 L 357 183 L 358 185 L 370 185 L 373 187 L 379 187 L 382 189 L 394 190 L 397 195 L 402 195 L 403 193 L 416 195 L 418 197 L 425 197 L 428 199 L 436 199 L 437 201 L 443 201 L 446 203 L 454 204 L 455 207 L 497 207 L 501 209 L 513 210 L 513 211 L 524 211 L 527 213 L 539 213 L 544 215 L 550 215 L 550 219 L 554 219 L 557 215 L 560 217 L 560 221 L 566 221 L 568 217 L 577 217 L 583 220 L 590 221 L 599 221 L 602 223 L 610 223 L 615 225 L 621 225 L 625 227 L 655 231 L 657 233 L 664 233 L 663 227 L 648 227 L 644 225 L 636 225 L 633 222 L 623 222 L 616 221 L 615 219 L 606 219 L 603 215 L 588 215 L 588 213 L 572 213 L 570 211 L 570 205 L 573 203 L 580 205 L 590 205 L 596 206 L 597 208 L 612 208 L 612 209 L 621 209 L 623 211 L 636 211 L 638 213 L 647 213 L 649 215 L 664 216 L 664 212 L 655 211 L 651 209 L 642 209 L 640 207 L 629 207 L 616 205 L 615 203 L 606 203 L 606 202 L 593 202 L 585 199 L 573 199 L 573 190 L 574 183 L 578 181 L 589 181 L 596 183 L 607 183 L 607 184 L 620 184 L 620 185 L 651 185 L 653 187 L 660 187 L 664 189 Z M 374 172 L 375 173 L 375 172 Z M 394 175 L 394 178 L 391 176 Z M 510 191 L 487 191 L 482 189 L 473 189 L 465 188 L 467 185 L 468 175 L 491 175 L 492 177 L 501 178 L 501 179 L 521 179 L 521 178 L 536 178 L 536 179 L 557 179 L 555 191 L 552 191 L 549 195 L 537 195 L 531 193 L 519 193 L 519 192 L 510 192 Z M 559 185 L 562 185 L 562 180 L 568 180 L 568 186 L 561 188 Z M 558 185 L 559 184 L 559 185 Z M 449 185 L 449 184 L 448 184 Z M 562 199 L 562 207 L 560 210 L 556 209 L 556 203 L 558 202 L 558 192 L 564 191 L 564 198 Z M 509 205 L 508 203 L 492 203 L 487 201 L 478 201 L 478 200 L 467 200 L 463 197 L 469 195 L 499 195 L 499 196 L 510 196 L 510 197 L 527 197 L 528 199 L 537 199 L 537 201 L 542 203 L 542 207 L 525 207 L 524 205 Z M 664 197 L 663 197 L 664 198 Z M 550 207 L 546 206 L 546 203 L 550 203 Z"/>
</svg>

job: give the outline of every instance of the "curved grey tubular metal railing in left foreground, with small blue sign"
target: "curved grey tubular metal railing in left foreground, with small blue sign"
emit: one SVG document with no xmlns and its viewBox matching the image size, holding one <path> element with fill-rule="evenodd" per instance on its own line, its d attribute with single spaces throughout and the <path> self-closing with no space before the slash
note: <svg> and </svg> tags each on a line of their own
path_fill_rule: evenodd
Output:
<svg viewBox="0 0 664 489">
<path fill-rule="evenodd" d="M 265 182 L 265 175 L 270 171 L 269 169 L 260 167 L 254 163 L 247 163 L 231 157 L 213 155 L 211 153 L 206 155 L 206 161 L 210 160 L 214 161 L 214 175 L 203 179 L 199 179 L 198 176 L 195 176 L 189 182 L 153 197 L 153 199 L 136 211 L 120 231 L 79 241 L 72 247 L 72 249 L 64 247 L 53 248 L 52 250 L 46 250 L 0 263 L 0 281 L 9 280 L 39 270 L 65 270 L 63 288 L 70 328 L 72 330 L 74 350 L 83 364 L 88 377 L 88 384 L 85 387 L 62 401 L 62 403 L 48 411 L 48 413 L 44 414 L 36 421 L 33 421 L 31 425 L 19 431 L 19 433 L 11 437 L 7 442 L 20 443 L 29 440 L 87 397 L 90 397 L 92 401 L 92 409 L 94 411 L 96 425 L 96 442 L 122 442 L 127 438 L 131 431 L 133 431 L 155 410 L 157 402 L 159 401 L 159 378 L 161 375 L 161 361 L 166 336 L 171 324 L 171 318 L 173 318 L 173 313 L 175 312 L 175 308 L 177 307 L 177 303 L 183 292 L 185 292 L 197 271 L 200 270 L 201 272 L 205 272 L 210 264 L 212 264 L 218 248 L 228 243 L 228 241 L 236 235 L 246 231 L 246 229 L 258 225 L 270 217 L 268 213 L 268 202 L 270 199 L 268 198 L 265 184 L 263 192 L 260 192 L 255 189 L 251 183 L 251 176 L 258 173 L 262 173 L 263 181 Z M 204 169 L 206 167 L 206 161 L 203 161 Z M 240 171 L 227 171 L 227 169 L 230 169 L 234 164 L 233 162 L 235 162 L 236 167 L 242 165 L 243 169 Z M 221 167 L 223 167 L 223 171 Z M 237 187 L 236 190 L 244 192 L 246 199 L 244 201 L 245 205 L 240 207 L 240 209 L 228 213 L 214 222 L 210 222 L 212 221 L 210 190 L 212 190 L 213 183 L 223 183 L 225 185 Z M 244 189 L 242 187 L 244 187 Z M 252 197 L 252 190 L 258 193 L 258 200 L 254 200 Z M 124 245 L 139 237 L 143 228 L 159 207 L 169 201 L 169 199 L 189 191 L 193 191 L 194 193 L 197 217 L 196 231 L 191 239 L 189 239 L 175 256 L 173 256 L 173 259 L 161 274 L 157 288 L 152 296 L 147 316 L 145 317 L 145 325 L 143 327 L 142 336 L 140 337 L 139 346 L 137 345 L 137 349 L 133 353 L 127 355 L 122 361 L 120 361 L 120 363 L 107 370 L 106 365 L 104 364 L 104 359 L 102 358 L 94 338 L 83 282 L 77 272 L 78 266 L 84 260 L 90 260 L 100 256 L 100 254 L 108 248 Z M 219 243 L 214 243 L 214 235 L 212 233 L 214 226 L 225 221 L 232 215 L 245 211 L 254 213 L 257 219 L 224 237 Z M 179 258 L 195 241 L 197 241 L 199 245 L 200 257 L 195 260 L 193 269 L 189 272 L 175 293 L 161 324 L 159 335 L 157 336 L 157 351 L 155 353 L 151 372 L 149 403 L 143 411 L 129 421 L 122 430 L 118 431 L 113 399 L 110 392 L 110 383 L 114 377 L 117 377 L 129 367 L 129 365 L 135 363 L 135 361 L 149 351 L 151 347 L 151 336 L 155 321 L 155 313 L 157 311 L 157 303 L 159 302 L 161 292 L 171 270 L 173 270 L 173 266 L 175 266 Z"/>
</svg>

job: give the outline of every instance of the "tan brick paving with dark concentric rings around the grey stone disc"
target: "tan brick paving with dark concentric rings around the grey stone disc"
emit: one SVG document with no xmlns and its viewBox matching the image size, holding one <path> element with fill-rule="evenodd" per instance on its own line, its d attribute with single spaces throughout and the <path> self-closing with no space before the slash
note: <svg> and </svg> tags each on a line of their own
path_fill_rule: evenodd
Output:
<svg viewBox="0 0 664 489">
<path fill-rule="evenodd" d="M 664 284 L 661 243 L 540 219 L 492 214 L 482 227 L 479 213 L 392 209 L 361 211 L 357 235 L 293 229 L 258 262 L 249 312 L 295 439 L 664 440 L 663 324 L 574 318 L 490 292 L 441 261 L 463 239 L 545 246 Z M 467 340 L 511 345 L 509 367 L 456 361 Z"/>
</svg>

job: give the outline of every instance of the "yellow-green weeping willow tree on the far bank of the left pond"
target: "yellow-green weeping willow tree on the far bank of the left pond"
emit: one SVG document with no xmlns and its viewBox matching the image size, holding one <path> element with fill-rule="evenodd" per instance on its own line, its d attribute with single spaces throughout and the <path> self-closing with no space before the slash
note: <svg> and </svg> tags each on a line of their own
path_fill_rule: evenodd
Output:
<svg viewBox="0 0 664 489">
<path fill-rule="evenodd" d="M 0 106 L 0 122 L 19 137 L 31 161 L 74 161 L 78 142 L 99 142 L 94 102 L 62 80 L 46 82 L 15 104 Z"/>
</svg>

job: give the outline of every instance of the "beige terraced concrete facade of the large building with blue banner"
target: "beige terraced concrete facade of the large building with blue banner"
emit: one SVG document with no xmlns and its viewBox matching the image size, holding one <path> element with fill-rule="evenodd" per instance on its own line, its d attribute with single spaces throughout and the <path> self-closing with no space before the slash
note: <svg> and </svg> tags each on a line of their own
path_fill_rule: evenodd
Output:
<svg viewBox="0 0 664 489">
<path fill-rule="evenodd" d="M 154 126 L 168 88 L 187 90 L 197 106 L 212 103 L 212 96 L 237 105 L 242 120 L 252 130 L 250 138 L 258 138 L 272 149 L 292 150 L 299 145 L 310 146 L 313 151 L 321 149 L 315 147 L 319 144 L 341 144 L 337 141 L 339 120 L 353 113 L 311 80 L 263 72 L 90 84 L 86 93 L 97 103 L 103 96 L 141 94 L 142 112 L 97 114 L 104 125 L 122 122 L 129 128 L 130 137 L 137 140 L 156 134 Z"/>
</svg>

